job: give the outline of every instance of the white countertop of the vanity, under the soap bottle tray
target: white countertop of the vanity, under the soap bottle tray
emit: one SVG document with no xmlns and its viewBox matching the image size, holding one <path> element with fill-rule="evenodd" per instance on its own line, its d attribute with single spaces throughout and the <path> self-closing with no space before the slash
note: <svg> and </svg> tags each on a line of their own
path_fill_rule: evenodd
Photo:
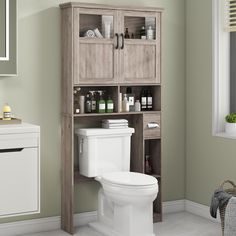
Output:
<svg viewBox="0 0 236 236">
<path fill-rule="evenodd" d="M 0 135 L 19 133 L 39 133 L 40 127 L 28 123 L 0 125 Z"/>
</svg>

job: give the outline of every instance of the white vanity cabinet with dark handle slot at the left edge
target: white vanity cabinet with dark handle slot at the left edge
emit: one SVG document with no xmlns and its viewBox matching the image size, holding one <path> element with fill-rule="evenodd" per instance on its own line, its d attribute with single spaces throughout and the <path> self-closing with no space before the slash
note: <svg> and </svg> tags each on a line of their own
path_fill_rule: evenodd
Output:
<svg viewBox="0 0 236 236">
<path fill-rule="evenodd" d="M 0 126 L 0 217 L 40 212 L 40 128 Z"/>
</svg>

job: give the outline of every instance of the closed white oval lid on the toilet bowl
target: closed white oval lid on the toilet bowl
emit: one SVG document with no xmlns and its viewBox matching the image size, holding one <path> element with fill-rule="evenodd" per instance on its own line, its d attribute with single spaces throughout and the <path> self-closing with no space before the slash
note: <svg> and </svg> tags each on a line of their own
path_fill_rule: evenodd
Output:
<svg viewBox="0 0 236 236">
<path fill-rule="evenodd" d="M 157 184 L 157 179 L 153 176 L 136 172 L 111 172 L 103 174 L 101 177 L 102 181 L 117 185 L 138 187 Z"/>
</svg>

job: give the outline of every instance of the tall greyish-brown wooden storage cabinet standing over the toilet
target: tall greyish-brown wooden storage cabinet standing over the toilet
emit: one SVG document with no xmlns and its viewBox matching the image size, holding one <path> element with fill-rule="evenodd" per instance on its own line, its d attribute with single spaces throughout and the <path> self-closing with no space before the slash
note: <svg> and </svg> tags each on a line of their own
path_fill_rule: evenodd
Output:
<svg viewBox="0 0 236 236">
<path fill-rule="evenodd" d="M 146 154 L 152 156 L 152 175 L 158 179 L 154 221 L 162 219 L 161 200 L 161 14 L 160 8 L 119 7 L 97 4 L 61 4 L 62 35 L 62 229 L 73 233 L 74 185 L 91 181 L 79 174 L 75 129 L 98 127 L 102 119 L 129 120 L 135 128 L 131 140 L 131 171 L 145 173 Z M 103 33 L 103 20 L 111 21 L 110 38 L 88 38 L 96 29 Z M 153 39 L 140 39 L 142 26 L 154 29 Z M 124 38 L 125 28 L 132 38 Z M 132 35 L 131 35 L 132 36 Z M 114 101 L 113 113 L 74 114 L 75 88 L 82 95 L 92 89 L 106 90 Z M 153 95 L 152 111 L 120 112 L 119 94 L 132 87 Z M 149 123 L 157 123 L 149 129 Z"/>
</svg>

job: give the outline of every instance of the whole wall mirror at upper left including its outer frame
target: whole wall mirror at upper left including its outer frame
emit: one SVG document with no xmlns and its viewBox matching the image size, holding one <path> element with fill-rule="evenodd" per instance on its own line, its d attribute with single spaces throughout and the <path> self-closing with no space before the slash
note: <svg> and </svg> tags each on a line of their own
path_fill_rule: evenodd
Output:
<svg viewBox="0 0 236 236">
<path fill-rule="evenodd" d="M 17 0 L 0 0 L 0 76 L 17 74 Z"/>
</svg>

